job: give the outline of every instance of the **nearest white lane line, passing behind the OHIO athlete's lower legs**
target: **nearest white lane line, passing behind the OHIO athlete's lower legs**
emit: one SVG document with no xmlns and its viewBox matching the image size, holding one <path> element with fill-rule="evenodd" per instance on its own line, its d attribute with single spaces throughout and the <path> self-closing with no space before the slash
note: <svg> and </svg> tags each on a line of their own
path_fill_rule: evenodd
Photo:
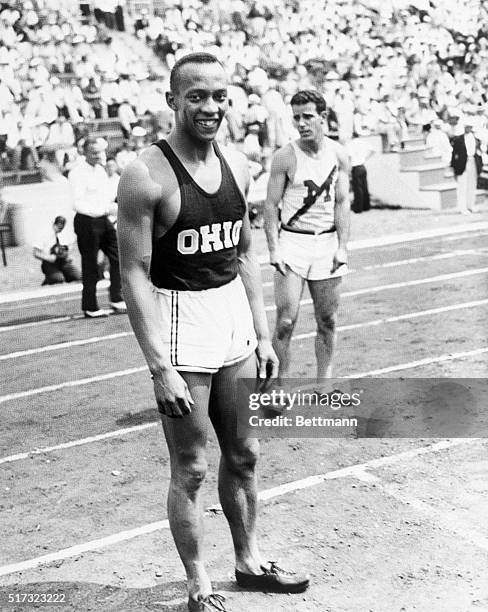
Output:
<svg viewBox="0 0 488 612">
<path fill-rule="evenodd" d="M 444 440 L 428 447 L 410 449 L 408 451 L 397 453 L 395 455 L 381 457 L 379 459 L 372 459 L 370 461 L 365 461 L 364 463 L 349 466 L 346 468 L 341 468 L 339 470 L 333 470 L 324 474 L 318 474 L 316 476 L 309 476 L 301 480 L 295 480 L 293 482 L 289 482 L 278 487 L 273 487 L 272 489 L 261 491 L 258 497 L 260 501 L 266 501 L 268 499 L 273 499 L 274 497 L 278 497 L 280 495 L 286 495 L 288 493 L 299 491 L 301 489 L 317 486 L 327 480 L 354 476 L 358 472 L 363 472 L 368 467 L 392 465 L 393 463 L 408 460 L 418 455 L 424 455 L 439 450 L 445 450 L 454 446 L 458 446 L 459 444 L 468 444 L 473 441 L 478 441 L 478 439 L 458 438 L 455 440 Z M 215 504 L 214 506 L 210 506 L 209 508 L 207 508 L 205 513 L 212 514 L 220 510 L 220 504 Z M 91 552 L 100 548 L 105 548 L 107 546 L 118 544 L 119 542 L 125 542 L 127 540 L 131 540 L 142 535 L 147 535 L 149 533 L 154 533 L 155 531 L 160 531 L 162 529 L 169 529 L 169 521 L 167 519 L 157 521 L 155 523 L 149 523 L 147 525 L 143 525 L 135 529 L 127 529 L 125 531 L 120 531 L 119 533 L 115 533 L 103 538 L 98 538 L 96 540 L 83 542 L 82 544 L 70 546 L 69 548 L 64 548 L 62 550 L 58 550 L 47 555 L 42 555 L 40 557 L 35 557 L 33 559 L 28 559 L 26 561 L 3 565 L 0 567 L 0 576 L 6 576 L 8 574 L 14 574 L 16 572 L 23 572 L 25 570 L 34 569 L 36 567 L 46 565 L 47 563 L 51 563 L 53 561 L 60 561 L 62 559 L 75 557 L 76 555 L 80 555 L 82 553 Z"/>
</svg>

